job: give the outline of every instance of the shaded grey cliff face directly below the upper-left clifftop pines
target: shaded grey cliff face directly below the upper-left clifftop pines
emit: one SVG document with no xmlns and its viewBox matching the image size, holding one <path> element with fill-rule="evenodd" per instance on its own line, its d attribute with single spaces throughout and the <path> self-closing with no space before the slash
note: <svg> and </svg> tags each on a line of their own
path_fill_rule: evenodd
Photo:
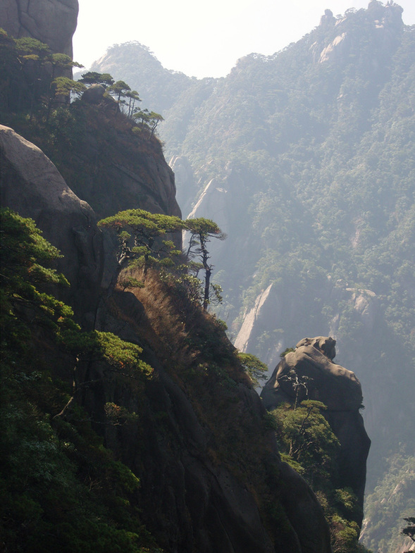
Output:
<svg viewBox="0 0 415 553">
<path fill-rule="evenodd" d="M 76 124 L 68 125 L 73 132 L 68 148 L 56 152 L 63 178 L 100 218 L 137 208 L 180 217 L 174 174 L 160 142 L 135 135 L 113 101 L 96 104 L 89 91 L 72 106 Z"/>
</svg>

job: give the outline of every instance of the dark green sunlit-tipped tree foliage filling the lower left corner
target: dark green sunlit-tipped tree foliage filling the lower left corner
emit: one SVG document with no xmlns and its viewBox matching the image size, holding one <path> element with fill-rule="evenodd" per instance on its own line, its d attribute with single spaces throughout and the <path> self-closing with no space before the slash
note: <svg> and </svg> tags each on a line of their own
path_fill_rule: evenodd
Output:
<svg viewBox="0 0 415 553">
<path fill-rule="evenodd" d="M 151 368 L 140 347 L 82 333 L 70 308 L 40 291 L 67 284 L 44 265 L 59 256 L 32 220 L 1 210 L 1 540 L 11 553 L 156 551 L 134 499 L 137 476 L 102 446 L 78 404 L 61 411 L 68 386 L 52 378 L 50 359 L 68 375 L 75 355 L 98 359 L 117 378 L 147 378 Z M 106 414 L 108 424 L 136 418 L 116 404 Z"/>
</svg>

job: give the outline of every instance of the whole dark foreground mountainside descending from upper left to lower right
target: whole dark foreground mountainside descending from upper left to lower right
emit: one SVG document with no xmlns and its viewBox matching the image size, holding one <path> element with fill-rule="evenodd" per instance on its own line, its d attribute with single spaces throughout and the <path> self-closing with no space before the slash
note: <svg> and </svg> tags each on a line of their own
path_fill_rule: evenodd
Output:
<svg viewBox="0 0 415 553">
<path fill-rule="evenodd" d="M 324 404 L 268 414 L 247 370 L 261 365 L 203 309 L 184 260 L 140 258 L 137 223 L 98 221 L 128 210 L 159 240 L 161 223 L 182 224 L 155 128 L 123 113 L 120 87 L 55 80 L 68 59 L 29 38 L 0 31 L 1 120 L 14 128 L 0 125 L 2 547 L 364 551 L 359 498 L 332 478 L 345 443 Z"/>
</svg>

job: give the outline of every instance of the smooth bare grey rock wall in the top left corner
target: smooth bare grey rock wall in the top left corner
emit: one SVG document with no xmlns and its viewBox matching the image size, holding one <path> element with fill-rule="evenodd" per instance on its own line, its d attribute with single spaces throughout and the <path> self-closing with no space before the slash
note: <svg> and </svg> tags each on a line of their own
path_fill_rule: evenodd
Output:
<svg viewBox="0 0 415 553">
<path fill-rule="evenodd" d="M 12 37 L 32 37 L 72 57 L 78 0 L 2 0 L 0 27 Z"/>
</svg>

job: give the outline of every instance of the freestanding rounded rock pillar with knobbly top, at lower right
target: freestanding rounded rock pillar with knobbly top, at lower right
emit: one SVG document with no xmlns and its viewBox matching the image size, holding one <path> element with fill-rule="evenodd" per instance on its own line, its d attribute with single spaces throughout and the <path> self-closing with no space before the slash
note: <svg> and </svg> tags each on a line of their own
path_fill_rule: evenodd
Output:
<svg viewBox="0 0 415 553">
<path fill-rule="evenodd" d="M 325 413 L 340 441 L 338 458 L 339 484 L 352 487 L 363 507 L 366 483 L 366 459 L 371 444 L 359 408 L 363 396 L 361 385 L 352 371 L 333 363 L 335 340 L 331 337 L 304 338 L 295 352 L 280 361 L 261 392 L 266 409 L 279 404 L 292 404 L 303 399 L 315 399 L 327 406 Z M 299 381 L 305 387 L 297 387 Z M 361 518 L 359 519 L 361 525 Z"/>
</svg>

